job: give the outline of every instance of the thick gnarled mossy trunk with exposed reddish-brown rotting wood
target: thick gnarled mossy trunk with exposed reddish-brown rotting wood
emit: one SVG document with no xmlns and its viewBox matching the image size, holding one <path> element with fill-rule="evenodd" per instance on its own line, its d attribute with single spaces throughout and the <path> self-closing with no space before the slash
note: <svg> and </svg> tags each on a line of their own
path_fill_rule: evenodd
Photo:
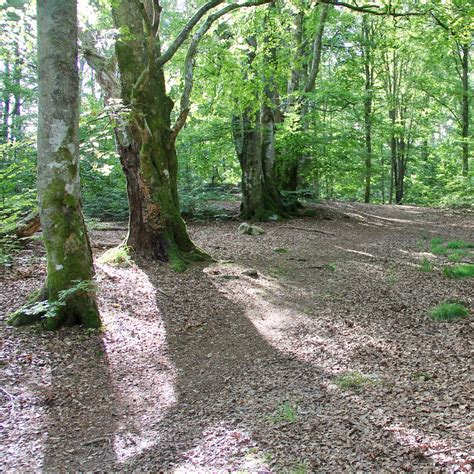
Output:
<svg viewBox="0 0 474 474">
<path fill-rule="evenodd" d="M 183 270 L 188 261 L 207 256 L 191 241 L 181 217 L 173 103 L 158 64 L 158 24 L 142 7 L 140 11 L 137 2 L 121 0 L 113 8 L 115 26 L 127 31 L 116 43 L 122 100 L 130 109 L 131 137 L 120 153 L 130 201 L 127 244 L 138 254 L 169 260 Z"/>
</svg>

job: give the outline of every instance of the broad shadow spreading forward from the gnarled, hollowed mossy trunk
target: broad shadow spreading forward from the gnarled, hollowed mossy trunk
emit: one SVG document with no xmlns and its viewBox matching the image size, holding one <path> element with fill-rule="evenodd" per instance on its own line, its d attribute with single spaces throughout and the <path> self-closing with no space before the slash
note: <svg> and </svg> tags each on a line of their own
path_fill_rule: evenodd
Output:
<svg viewBox="0 0 474 474">
<path fill-rule="evenodd" d="M 166 272 L 162 283 L 155 269 L 143 270 L 170 295 L 160 308 L 177 401 L 155 426 L 156 443 L 124 468 L 433 468 L 432 459 L 382 429 L 395 416 L 382 401 L 341 393 L 333 374 L 273 347 L 201 269 Z M 285 401 L 296 420 L 279 411 Z"/>
</svg>

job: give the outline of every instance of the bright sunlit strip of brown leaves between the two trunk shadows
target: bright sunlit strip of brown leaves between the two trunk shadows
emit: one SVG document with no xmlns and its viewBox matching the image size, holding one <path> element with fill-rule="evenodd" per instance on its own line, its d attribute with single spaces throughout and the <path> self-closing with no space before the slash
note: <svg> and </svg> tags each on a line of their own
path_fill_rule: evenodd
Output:
<svg viewBox="0 0 474 474">
<path fill-rule="evenodd" d="M 176 404 L 176 374 L 167 356 L 157 291 L 148 276 L 136 266 L 103 264 L 98 264 L 98 273 L 105 356 L 121 407 L 113 434 L 120 463 L 158 441 L 153 426 Z M 113 298 L 107 294 L 109 285 L 114 286 Z"/>
</svg>

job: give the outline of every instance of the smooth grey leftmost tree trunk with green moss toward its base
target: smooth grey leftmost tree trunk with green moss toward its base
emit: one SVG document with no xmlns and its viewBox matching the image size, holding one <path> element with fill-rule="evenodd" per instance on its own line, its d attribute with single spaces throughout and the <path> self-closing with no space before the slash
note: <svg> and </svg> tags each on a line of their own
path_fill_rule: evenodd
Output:
<svg viewBox="0 0 474 474">
<path fill-rule="evenodd" d="M 101 325 L 93 291 L 61 295 L 94 276 L 79 182 L 76 8 L 75 0 L 37 2 L 38 200 L 48 261 L 43 296 L 55 308 L 45 319 L 49 329 Z M 21 310 L 17 316 L 12 324 L 23 320 Z"/>
</svg>

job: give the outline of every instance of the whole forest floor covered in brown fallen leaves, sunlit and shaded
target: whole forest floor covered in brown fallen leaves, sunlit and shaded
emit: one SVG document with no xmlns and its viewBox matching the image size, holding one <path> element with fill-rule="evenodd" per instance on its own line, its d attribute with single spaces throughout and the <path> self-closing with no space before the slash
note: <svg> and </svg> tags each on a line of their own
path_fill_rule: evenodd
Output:
<svg viewBox="0 0 474 474">
<path fill-rule="evenodd" d="M 97 264 L 103 331 L 1 324 L 0 470 L 469 472 L 472 279 L 429 242 L 472 241 L 473 214 L 317 208 L 257 237 L 191 222 L 219 262 L 181 274 Z M 44 275 L 33 239 L 0 276 L 2 317 Z M 471 317 L 433 321 L 450 299 Z"/>
</svg>

